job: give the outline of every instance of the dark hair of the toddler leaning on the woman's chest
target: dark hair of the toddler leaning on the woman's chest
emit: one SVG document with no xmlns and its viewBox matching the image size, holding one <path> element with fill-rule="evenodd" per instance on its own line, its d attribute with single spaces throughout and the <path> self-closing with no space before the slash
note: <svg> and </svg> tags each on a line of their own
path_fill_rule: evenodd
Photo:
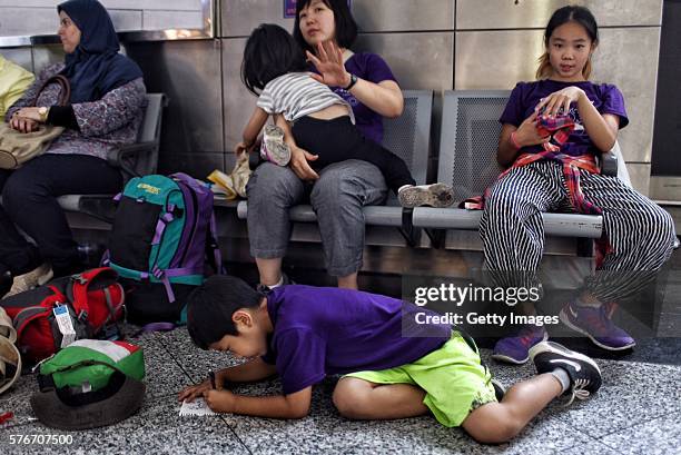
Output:
<svg viewBox="0 0 681 455">
<path fill-rule="evenodd" d="M 287 72 L 307 71 L 305 53 L 289 32 L 274 23 L 256 28 L 244 49 L 241 81 L 248 91 L 258 95 L 267 82 Z"/>
</svg>

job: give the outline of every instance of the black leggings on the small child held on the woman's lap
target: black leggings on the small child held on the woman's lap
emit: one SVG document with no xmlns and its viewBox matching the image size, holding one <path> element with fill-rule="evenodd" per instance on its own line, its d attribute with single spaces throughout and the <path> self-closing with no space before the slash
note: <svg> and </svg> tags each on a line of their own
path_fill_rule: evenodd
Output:
<svg viewBox="0 0 681 455">
<path fill-rule="evenodd" d="M 381 169 L 387 187 L 395 192 L 404 185 L 416 185 L 404 160 L 362 136 L 348 116 L 332 120 L 303 117 L 296 120 L 292 131 L 298 147 L 319 156 L 310 161 L 315 170 L 347 159 L 361 159 Z"/>
</svg>

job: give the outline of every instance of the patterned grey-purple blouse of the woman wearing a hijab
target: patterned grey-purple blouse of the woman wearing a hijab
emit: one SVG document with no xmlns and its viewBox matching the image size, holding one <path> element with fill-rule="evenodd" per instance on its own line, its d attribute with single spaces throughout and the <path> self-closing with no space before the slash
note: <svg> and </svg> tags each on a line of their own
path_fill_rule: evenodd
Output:
<svg viewBox="0 0 681 455">
<path fill-rule="evenodd" d="M 32 107 L 36 93 L 45 81 L 63 69 L 63 63 L 51 65 L 8 109 L 6 120 L 24 107 Z M 50 83 L 42 90 L 34 106 L 55 106 L 61 88 Z M 147 89 L 142 78 L 131 80 L 106 93 L 100 100 L 72 105 L 80 131 L 65 130 L 47 150 L 47 154 L 89 155 L 107 159 L 112 148 L 135 144 L 142 121 Z"/>
</svg>

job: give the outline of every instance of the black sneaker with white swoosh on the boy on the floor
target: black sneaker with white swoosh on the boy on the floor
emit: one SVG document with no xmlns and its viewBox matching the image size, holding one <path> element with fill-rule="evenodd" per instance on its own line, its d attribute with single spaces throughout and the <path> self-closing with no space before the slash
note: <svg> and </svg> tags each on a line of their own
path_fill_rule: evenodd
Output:
<svg viewBox="0 0 681 455">
<path fill-rule="evenodd" d="M 551 373 L 555 368 L 563 368 L 570 376 L 570 389 L 572 394 L 570 405 L 574 398 L 586 399 L 601 388 L 601 369 L 591 358 L 583 354 L 570 350 L 553 342 L 542 342 L 530 349 L 530 358 L 534 362 L 536 373 Z"/>
</svg>

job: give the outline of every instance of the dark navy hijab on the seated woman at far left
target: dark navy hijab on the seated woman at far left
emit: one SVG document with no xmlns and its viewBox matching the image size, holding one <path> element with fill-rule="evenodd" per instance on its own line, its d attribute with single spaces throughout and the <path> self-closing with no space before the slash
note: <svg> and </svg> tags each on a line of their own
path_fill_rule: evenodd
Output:
<svg viewBox="0 0 681 455">
<path fill-rule="evenodd" d="M 109 91 L 142 77 L 120 46 L 109 13 L 97 0 L 69 0 L 57 7 L 80 30 L 80 43 L 66 56 L 61 73 L 71 83 L 71 103 L 101 99 Z"/>
</svg>

